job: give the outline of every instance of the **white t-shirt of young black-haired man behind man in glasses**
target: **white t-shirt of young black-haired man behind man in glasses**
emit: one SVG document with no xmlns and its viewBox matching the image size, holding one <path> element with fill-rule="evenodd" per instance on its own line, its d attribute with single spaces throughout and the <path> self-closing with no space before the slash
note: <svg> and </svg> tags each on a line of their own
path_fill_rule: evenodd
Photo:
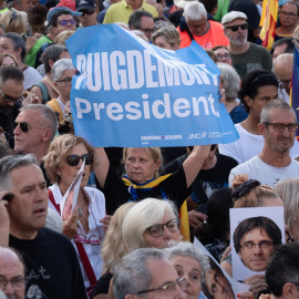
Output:
<svg viewBox="0 0 299 299">
<path fill-rule="evenodd" d="M 246 131 L 240 124 L 236 124 L 240 137 L 229 144 L 219 144 L 219 152 L 223 155 L 235 158 L 239 164 L 247 162 L 254 156 L 261 153 L 265 140 L 262 135 L 251 134 Z M 299 156 L 299 143 L 295 138 L 293 146 L 290 150 L 290 157 Z"/>
</svg>

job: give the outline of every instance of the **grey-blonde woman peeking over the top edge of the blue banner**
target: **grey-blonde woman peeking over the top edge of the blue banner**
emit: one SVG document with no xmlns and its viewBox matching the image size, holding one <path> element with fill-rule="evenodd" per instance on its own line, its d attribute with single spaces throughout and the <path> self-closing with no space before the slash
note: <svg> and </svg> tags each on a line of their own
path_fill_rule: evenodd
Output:
<svg viewBox="0 0 299 299">
<path fill-rule="evenodd" d="M 158 48 L 176 51 L 179 49 L 181 38 L 175 27 L 166 24 L 153 33 L 152 42 Z"/>
</svg>

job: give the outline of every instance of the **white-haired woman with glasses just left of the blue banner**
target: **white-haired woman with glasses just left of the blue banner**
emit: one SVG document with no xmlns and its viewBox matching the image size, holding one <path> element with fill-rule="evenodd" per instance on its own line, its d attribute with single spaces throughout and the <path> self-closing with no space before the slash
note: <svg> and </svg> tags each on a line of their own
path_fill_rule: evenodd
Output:
<svg viewBox="0 0 299 299">
<path fill-rule="evenodd" d="M 70 95 L 74 73 L 75 69 L 71 59 L 61 59 L 56 61 L 52 69 L 52 80 L 59 91 L 59 97 L 52 99 L 47 105 L 58 114 L 59 122 L 63 121 L 65 106 L 68 106 L 68 113 L 70 111 Z"/>
</svg>

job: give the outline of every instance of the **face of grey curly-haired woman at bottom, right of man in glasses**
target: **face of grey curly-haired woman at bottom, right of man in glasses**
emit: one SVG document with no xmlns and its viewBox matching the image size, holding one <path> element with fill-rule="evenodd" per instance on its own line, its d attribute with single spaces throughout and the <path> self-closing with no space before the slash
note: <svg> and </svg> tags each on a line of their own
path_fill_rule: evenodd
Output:
<svg viewBox="0 0 299 299">
<path fill-rule="evenodd" d="M 197 299 L 202 290 L 200 265 L 197 259 L 185 256 L 174 256 L 171 259 L 179 278 L 186 278 L 186 299 Z"/>
</svg>

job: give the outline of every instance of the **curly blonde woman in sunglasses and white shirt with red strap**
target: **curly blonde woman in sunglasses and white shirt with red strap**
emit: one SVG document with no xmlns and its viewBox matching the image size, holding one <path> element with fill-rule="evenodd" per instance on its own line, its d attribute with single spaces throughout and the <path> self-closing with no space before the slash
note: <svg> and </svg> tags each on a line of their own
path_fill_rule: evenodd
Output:
<svg viewBox="0 0 299 299">
<path fill-rule="evenodd" d="M 85 161 L 78 202 L 70 215 L 60 209 L 61 200 Z M 44 156 L 49 188 L 49 207 L 63 217 L 62 233 L 72 239 L 80 257 L 85 287 L 96 282 L 102 272 L 100 251 L 104 238 L 100 219 L 105 216 L 105 198 L 96 188 L 86 187 L 93 171 L 93 147 L 82 137 L 65 134 L 56 137 Z"/>
</svg>

